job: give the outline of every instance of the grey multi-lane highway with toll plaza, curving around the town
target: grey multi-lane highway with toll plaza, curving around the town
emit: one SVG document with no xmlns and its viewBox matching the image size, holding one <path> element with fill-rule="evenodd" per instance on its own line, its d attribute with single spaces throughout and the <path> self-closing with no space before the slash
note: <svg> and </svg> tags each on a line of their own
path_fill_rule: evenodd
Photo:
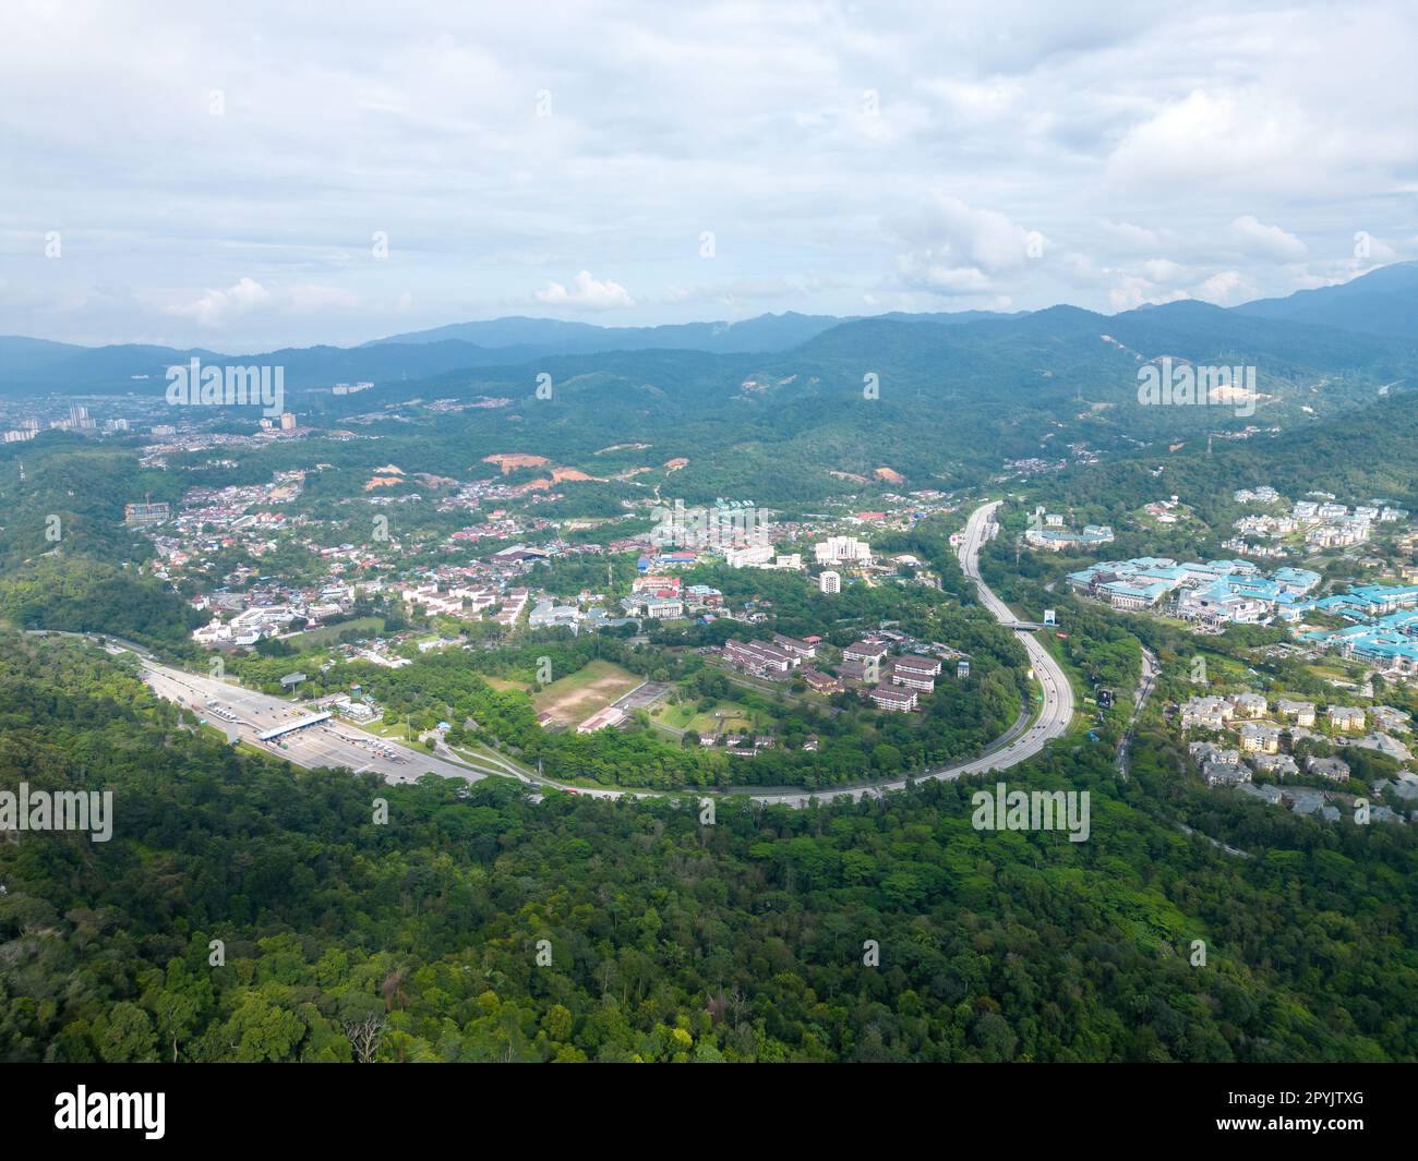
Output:
<svg viewBox="0 0 1418 1161">
<path fill-rule="evenodd" d="M 980 549 L 990 534 L 990 525 L 1000 500 L 977 507 L 966 522 L 964 536 L 957 554 L 960 567 L 966 577 L 974 581 L 983 604 L 994 618 L 1007 628 L 1022 629 L 1029 622 L 1020 621 L 1010 607 L 1001 601 L 980 576 Z M 807 807 L 810 802 L 828 802 L 834 798 L 851 798 L 854 801 L 865 797 L 879 797 L 886 791 L 903 790 L 908 783 L 925 783 L 933 780 L 961 778 L 967 774 L 987 774 L 990 771 L 1008 770 L 1038 754 L 1052 739 L 1062 737 L 1073 717 L 1073 688 L 1068 675 L 1054 656 L 1034 638 L 1031 632 L 1020 632 L 1034 669 L 1035 680 L 1044 695 L 1044 705 L 1034 724 L 1020 733 L 1008 733 L 983 754 L 956 765 L 943 765 L 934 770 L 923 770 L 909 778 L 895 778 L 886 783 L 875 783 L 869 787 L 844 787 L 841 790 L 818 791 L 788 791 L 783 794 L 754 794 L 756 802 L 787 807 Z M 121 652 L 113 649 L 112 652 Z M 488 754 L 464 756 L 454 754 L 447 746 L 440 746 L 435 756 L 423 750 L 414 750 L 397 741 L 376 739 L 363 734 L 352 726 L 336 720 L 329 720 L 318 726 L 309 726 L 281 739 L 288 748 L 279 748 L 269 743 L 257 740 L 257 734 L 269 730 L 281 722 L 308 713 L 306 709 L 282 697 L 272 697 L 251 689 L 218 682 L 211 678 L 201 678 L 182 669 L 172 669 L 159 665 L 143 651 L 133 646 L 143 668 L 143 679 L 153 692 L 170 702 L 183 702 L 197 710 L 208 722 L 224 726 L 244 741 L 261 750 L 268 750 L 272 756 L 285 758 L 309 768 L 322 765 L 347 765 L 356 773 L 374 770 L 390 783 L 411 783 L 424 773 L 434 773 L 445 778 L 464 778 L 478 781 L 489 775 L 512 777 L 533 785 L 559 785 L 550 778 L 529 777 L 506 758 Z M 233 720 L 224 720 L 210 713 L 208 703 L 216 699 L 220 707 L 233 714 Z M 587 798 L 654 798 L 659 791 L 613 790 L 601 787 L 574 787 L 576 794 Z M 665 797 L 683 797 L 693 791 L 671 791 Z"/>
</svg>

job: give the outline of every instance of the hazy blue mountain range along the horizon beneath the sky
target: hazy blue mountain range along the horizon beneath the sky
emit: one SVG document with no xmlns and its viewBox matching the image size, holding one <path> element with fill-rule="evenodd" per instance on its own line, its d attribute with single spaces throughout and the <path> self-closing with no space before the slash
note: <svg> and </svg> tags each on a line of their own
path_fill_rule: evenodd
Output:
<svg viewBox="0 0 1418 1161">
<path fill-rule="evenodd" d="M 1289 298 L 1229 309 L 1185 301 L 1112 316 L 1076 306 L 1014 315 L 892 312 L 845 319 L 788 312 L 733 323 L 628 327 L 505 318 L 394 335 L 357 347 L 288 347 L 258 354 L 138 344 L 82 347 L 13 336 L 0 337 L 0 394 L 156 391 L 163 386 L 167 367 L 193 357 L 282 366 L 291 390 L 356 380 L 379 386 L 420 380 L 457 383 L 459 376 L 478 369 L 540 370 L 536 364 L 547 360 L 614 352 L 769 356 L 818 343 L 822 344 L 818 353 L 831 349 L 837 357 L 869 364 L 882 360 L 872 344 L 886 342 L 899 349 L 912 367 L 925 371 L 929 367 L 920 360 L 933 357 L 929 352 L 947 342 L 946 333 L 956 333 L 954 346 L 960 350 L 998 353 L 1012 344 L 1031 350 L 1034 359 L 1052 352 L 1061 364 L 1076 363 L 1085 350 L 1092 353 L 1106 335 L 1133 352 L 1143 352 L 1144 357 L 1171 353 L 1194 361 L 1228 364 L 1263 359 L 1272 373 L 1293 373 L 1296 378 L 1364 363 L 1391 366 L 1392 350 L 1375 352 L 1373 359 L 1364 360 L 1353 350 L 1351 339 L 1366 335 L 1401 342 L 1409 349 L 1418 346 L 1418 264 L 1384 267 L 1341 286 L 1300 291 Z M 1066 352 L 1069 342 L 1081 342 L 1081 352 Z M 937 352 L 934 357 L 944 356 Z M 949 367 L 939 370 L 944 373 Z M 518 380 L 526 376 L 519 374 Z"/>
</svg>

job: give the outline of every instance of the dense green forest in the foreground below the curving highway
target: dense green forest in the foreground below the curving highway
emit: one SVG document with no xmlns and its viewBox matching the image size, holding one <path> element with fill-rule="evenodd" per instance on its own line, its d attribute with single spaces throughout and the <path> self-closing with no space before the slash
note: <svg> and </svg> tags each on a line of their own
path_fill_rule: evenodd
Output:
<svg viewBox="0 0 1418 1161">
<path fill-rule="evenodd" d="M 4 636 L 0 788 L 109 788 L 115 822 L 0 842 L 0 1059 L 349 1060 L 360 1029 L 380 1060 L 1418 1058 L 1408 828 L 1217 800 L 1236 859 L 1156 814 L 1168 761 L 1010 771 L 1089 790 L 1083 843 L 973 829 L 968 784 L 703 826 L 296 773 Z"/>
</svg>

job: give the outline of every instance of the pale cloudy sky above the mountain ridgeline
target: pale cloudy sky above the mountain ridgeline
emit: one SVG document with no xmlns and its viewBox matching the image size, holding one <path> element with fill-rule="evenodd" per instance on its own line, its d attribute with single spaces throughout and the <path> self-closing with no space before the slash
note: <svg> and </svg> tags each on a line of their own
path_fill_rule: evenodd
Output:
<svg viewBox="0 0 1418 1161">
<path fill-rule="evenodd" d="M 294 7 L 6 0 L 0 335 L 1112 313 L 1418 258 L 1408 0 Z"/>
</svg>

